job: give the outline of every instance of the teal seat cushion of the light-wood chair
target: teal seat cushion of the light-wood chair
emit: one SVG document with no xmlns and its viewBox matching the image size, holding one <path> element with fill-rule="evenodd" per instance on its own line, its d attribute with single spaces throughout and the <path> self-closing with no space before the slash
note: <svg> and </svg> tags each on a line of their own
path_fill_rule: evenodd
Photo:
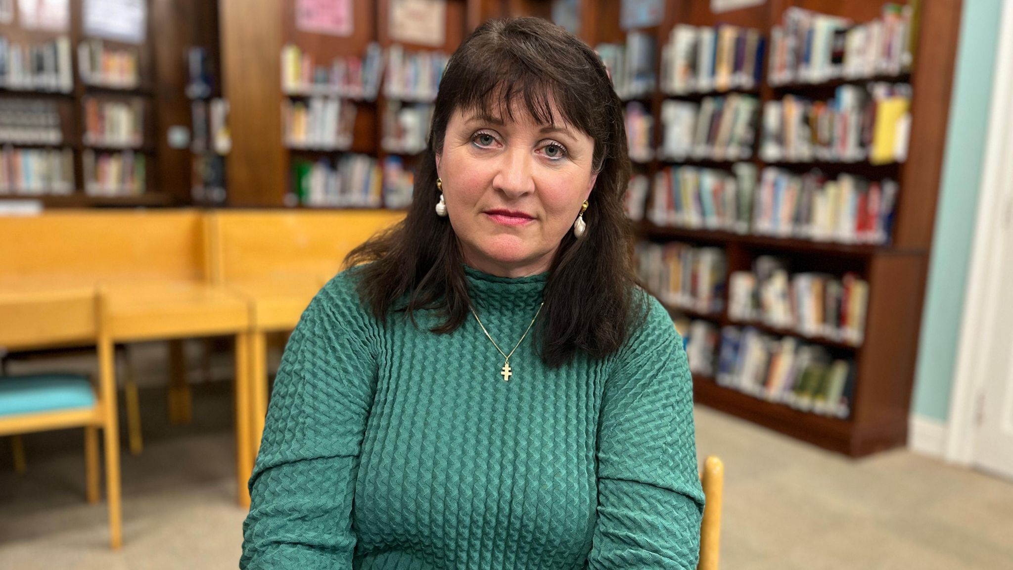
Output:
<svg viewBox="0 0 1013 570">
<path fill-rule="evenodd" d="M 80 374 L 0 376 L 0 416 L 91 408 L 95 391 Z"/>
</svg>

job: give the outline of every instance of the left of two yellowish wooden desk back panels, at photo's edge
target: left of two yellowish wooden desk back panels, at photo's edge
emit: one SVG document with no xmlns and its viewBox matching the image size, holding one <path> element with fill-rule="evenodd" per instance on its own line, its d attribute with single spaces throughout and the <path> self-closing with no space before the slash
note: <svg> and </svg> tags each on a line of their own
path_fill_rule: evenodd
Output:
<svg viewBox="0 0 1013 570">
<path fill-rule="evenodd" d="M 0 279 L 72 283 L 203 279 L 205 220 L 197 210 L 55 210 L 0 217 Z"/>
</svg>

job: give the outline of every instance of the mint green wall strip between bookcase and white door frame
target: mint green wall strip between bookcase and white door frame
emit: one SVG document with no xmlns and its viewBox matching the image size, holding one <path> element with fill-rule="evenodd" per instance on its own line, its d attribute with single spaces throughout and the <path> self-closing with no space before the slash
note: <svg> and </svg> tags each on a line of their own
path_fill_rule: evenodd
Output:
<svg viewBox="0 0 1013 570">
<path fill-rule="evenodd" d="M 962 10 L 912 404 L 913 414 L 941 422 L 949 416 L 1002 0 L 963 0 Z"/>
</svg>

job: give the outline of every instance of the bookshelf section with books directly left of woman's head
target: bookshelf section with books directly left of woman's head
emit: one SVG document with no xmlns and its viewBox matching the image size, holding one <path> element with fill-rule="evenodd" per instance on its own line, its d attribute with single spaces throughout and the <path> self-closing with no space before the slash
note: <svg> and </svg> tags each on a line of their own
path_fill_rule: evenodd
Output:
<svg viewBox="0 0 1013 570">
<path fill-rule="evenodd" d="M 464 37 L 465 2 L 432 4 L 417 14 L 417 3 L 349 3 L 345 29 L 283 5 L 285 205 L 410 204 L 440 78 Z"/>
</svg>

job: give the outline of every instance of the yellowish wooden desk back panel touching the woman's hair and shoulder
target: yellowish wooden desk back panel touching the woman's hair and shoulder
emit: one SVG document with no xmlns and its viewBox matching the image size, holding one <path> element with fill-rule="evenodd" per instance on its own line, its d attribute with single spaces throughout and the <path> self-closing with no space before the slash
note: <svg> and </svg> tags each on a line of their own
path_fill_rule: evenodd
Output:
<svg viewBox="0 0 1013 570">
<path fill-rule="evenodd" d="M 403 218 L 384 210 L 220 210 L 210 222 L 214 281 L 326 279 L 354 247 Z"/>
</svg>

